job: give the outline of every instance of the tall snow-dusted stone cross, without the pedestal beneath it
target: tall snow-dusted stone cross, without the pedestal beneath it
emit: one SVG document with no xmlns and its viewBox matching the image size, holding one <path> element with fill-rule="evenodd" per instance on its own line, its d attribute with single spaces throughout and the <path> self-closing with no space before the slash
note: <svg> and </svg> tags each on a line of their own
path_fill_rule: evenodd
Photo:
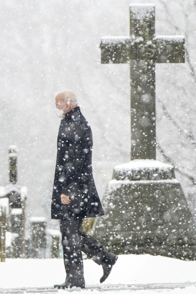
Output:
<svg viewBox="0 0 196 294">
<path fill-rule="evenodd" d="M 130 36 L 100 49 L 101 63 L 130 63 L 131 160 L 156 159 L 155 64 L 185 62 L 184 37 L 155 36 L 154 4 L 131 4 Z"/>
</svg>

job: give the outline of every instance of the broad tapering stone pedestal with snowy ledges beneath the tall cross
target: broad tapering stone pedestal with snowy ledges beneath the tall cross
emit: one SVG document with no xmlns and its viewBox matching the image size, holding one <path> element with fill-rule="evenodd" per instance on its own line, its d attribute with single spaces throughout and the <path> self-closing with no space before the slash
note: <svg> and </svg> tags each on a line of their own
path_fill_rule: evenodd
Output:
<svg viewBox="0 0 196 294">
<path fill-rule="evenodd" d="M 196 224 L 172 165 L 135 159 L 114 168 L 92 235 L 115 254 L 196 259 Z"/>
</svg>

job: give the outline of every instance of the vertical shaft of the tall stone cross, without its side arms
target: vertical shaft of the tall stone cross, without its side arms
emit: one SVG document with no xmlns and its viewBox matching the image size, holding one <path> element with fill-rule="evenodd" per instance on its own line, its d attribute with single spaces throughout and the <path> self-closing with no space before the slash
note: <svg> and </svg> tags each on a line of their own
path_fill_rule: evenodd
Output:
<svg viewBox="0 0 196 294">
<path fill-rule="evenodd" d="M 156 159 L 154 25 L 154 6 L 130 6 L 131 160 Z"/>
</svg>

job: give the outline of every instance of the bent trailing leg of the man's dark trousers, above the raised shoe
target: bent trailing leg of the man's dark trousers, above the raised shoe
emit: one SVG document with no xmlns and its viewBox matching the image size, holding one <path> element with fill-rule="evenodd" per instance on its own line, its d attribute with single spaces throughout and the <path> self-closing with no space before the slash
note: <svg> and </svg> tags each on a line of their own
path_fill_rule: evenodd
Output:
<svg viewBox="0 0 196 294">
<path fill-rule="evenodd" d="M 83 218 L 78 219 L 78 233 L 80 236 L 81 250 L 98 265 L 102 265 L 103 263 L 114 265 L 118 258 L 117 255 L 106 251 L 95 238 L 86 232 L 80 231 L 79 228 L 82 224 Z"/>
</svg>

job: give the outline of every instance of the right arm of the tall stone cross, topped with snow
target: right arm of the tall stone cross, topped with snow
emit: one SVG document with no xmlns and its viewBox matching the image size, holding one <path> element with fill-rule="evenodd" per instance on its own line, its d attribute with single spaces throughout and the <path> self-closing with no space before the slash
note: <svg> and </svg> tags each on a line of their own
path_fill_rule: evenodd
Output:
<svg viewBox="0 0 196 294">
<path fill-rule="evenodd" d="M 153 39 L 157 63 L 184 63 L 184 36 L 157 36 Z"/>
</svg>

